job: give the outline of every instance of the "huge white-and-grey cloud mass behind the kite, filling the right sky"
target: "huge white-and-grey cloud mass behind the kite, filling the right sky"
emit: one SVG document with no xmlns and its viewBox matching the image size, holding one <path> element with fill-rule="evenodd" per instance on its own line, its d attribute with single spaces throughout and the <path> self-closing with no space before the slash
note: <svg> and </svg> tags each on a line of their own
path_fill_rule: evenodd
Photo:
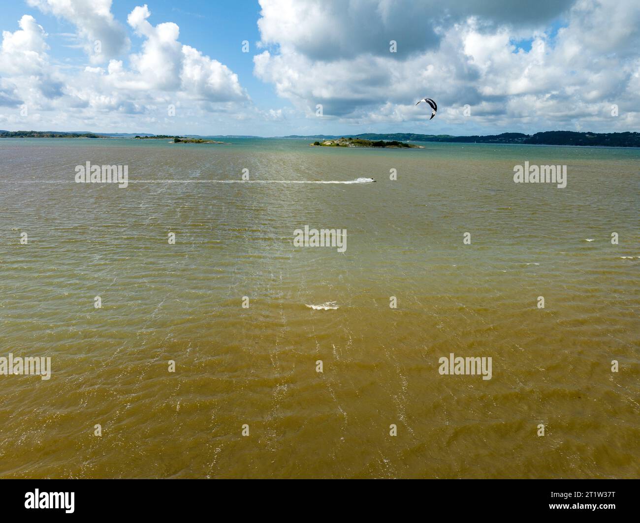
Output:
<svg viewBox="0 0 640 523">
<path fill-rule="evenodd" d="M 428 120 L 413 103 L 429 96 L 443 123 L 463 122 L 467 104 L 476 122 L 505 130 L 609 125 L 612 104 L 625 111 L 613 125 L 640 123 L 634 0 L 260 5 L 266 51 L 254 73 L 310 117 L 321 104 L 325 118 L 348 123 Z"/>
</svg>

